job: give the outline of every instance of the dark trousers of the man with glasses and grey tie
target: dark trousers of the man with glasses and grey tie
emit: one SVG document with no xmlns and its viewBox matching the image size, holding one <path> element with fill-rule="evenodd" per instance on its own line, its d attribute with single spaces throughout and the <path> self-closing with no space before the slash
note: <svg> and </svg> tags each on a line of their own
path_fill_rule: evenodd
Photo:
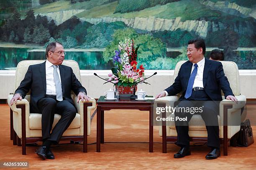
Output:
<svg viewBox="0 0 256 170">
<path fill-rule="evenodd" d="M 59 143 L 61 136 L 76 116 L 74 105 L 67 100 L 58 101 L 54 95 L 46 95 L 38 100 L 37 105 L 42 114 L 42 140 Z M 61 118 L 51 132 L 54 114 L 61 115 Z"/>
</svg>

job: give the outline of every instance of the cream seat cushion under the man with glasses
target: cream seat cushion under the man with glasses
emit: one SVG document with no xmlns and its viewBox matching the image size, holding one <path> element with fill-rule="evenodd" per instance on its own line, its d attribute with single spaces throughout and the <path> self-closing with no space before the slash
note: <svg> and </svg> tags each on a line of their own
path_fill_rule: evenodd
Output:
<svg viewBox="0 0 256 170">
<path fill-rule="evenodd" d="M 61 115 L 55 114 L 54 115 L 54 122 L 52 125 L 52 129 L 54 126 L 57 124 L 57 122 L 60 120 Z M 39 113 L 30 113 L 29 114 L 29 128 L 30 129 L 42 129 L 42 123 L 41 123 L 42 115 Z M 81 117 L 77 113 L 76 117 L 72 121 L 72 123 L 69 125 L 68 129 L 73 129 L 73 128 L 80 128 L 81 126 Z"/>
</svg>

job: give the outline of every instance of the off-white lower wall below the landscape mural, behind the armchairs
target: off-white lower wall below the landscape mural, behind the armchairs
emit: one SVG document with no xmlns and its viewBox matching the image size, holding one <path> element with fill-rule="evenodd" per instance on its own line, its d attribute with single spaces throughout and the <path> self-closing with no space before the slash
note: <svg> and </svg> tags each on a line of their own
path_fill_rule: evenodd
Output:
<svg viewBox="0 0 256 170">
<path fill-rule="evenodd" d="M 81 83 L 86 88 L 88 95 L 99 98 L 106 90 L 113 87 L 112 83 L 103 85 L 104 80 L 93 75 L 108 78 L 110 70 L 81 70 Z M 156 95 L 171 85 L 174 70 L 146 70 L 146 77 L 157 72 L 157 75 L 146 80 L 151 85 L 140 84 L 138 90 L 143 89 L 147 95 Z M 239 70 L 241 81 L 241 94 L 246 98 L 256 98 L 256 70 Z M 15 70 L 0 70 L 0 99 L 6 99 L 10 92 L 14 92 Z"/>
</svg>

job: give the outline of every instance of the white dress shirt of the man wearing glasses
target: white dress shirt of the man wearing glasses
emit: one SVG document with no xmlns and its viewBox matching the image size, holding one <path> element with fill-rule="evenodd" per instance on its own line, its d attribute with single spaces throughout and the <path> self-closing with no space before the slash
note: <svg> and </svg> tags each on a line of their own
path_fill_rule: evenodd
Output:
<svg viewBox="0 0 256 170">
<path fill-rule="evenodd" d="M 61 82 L 61 77 L 59 73 L 59 65 L 57 65 L 57 72 L 59 75 L 59 80 Z M 45 63 L 45 73 L 46 73 L 46 95 L 56 95 L 55 82 L 53 77 L 54 67 L 51 62 L 46 60 Z"/>
</svg>

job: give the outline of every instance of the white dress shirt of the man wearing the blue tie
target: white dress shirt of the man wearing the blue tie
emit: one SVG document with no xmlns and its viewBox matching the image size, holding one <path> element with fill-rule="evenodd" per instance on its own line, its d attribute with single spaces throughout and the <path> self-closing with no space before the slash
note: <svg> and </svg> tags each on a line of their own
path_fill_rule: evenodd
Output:
<svg viewBox="0 0 256 170">
<path fill-rule="evenodd" d="M 192 71 L 194 70 L 195 68 L 195 63 L 193 63 L 192 65 L 192 69 L 191 69 L 191 72 L 190 74 L 192 73 Z M 199 62 L 197 62 L 197 75 L 195 77 L 195 81 L 194 81 L 194 84 L 193 84 L 193 88 L 195 87 L 204 87 L 203 85 L 203 74 L 204 74 L 204 68 L 205 68 L 205 57 L 203 57 L 202 60 L 200 60 Z M 166 90 L 164 90 L 166 96 L 168 96 L 168 92 L 166 92 Z"/>
</svg>

